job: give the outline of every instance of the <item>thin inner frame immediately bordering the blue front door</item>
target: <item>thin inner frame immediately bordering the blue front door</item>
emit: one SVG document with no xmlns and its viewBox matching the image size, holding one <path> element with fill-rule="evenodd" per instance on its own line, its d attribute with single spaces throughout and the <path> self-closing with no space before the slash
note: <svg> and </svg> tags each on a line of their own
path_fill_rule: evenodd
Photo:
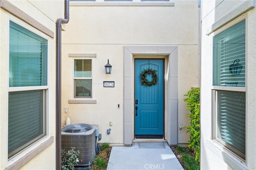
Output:
<svg viewBox="0 0 256 170">
<path fill-rule="evenodd" d="M 151 57 L 150 57 L 151 56 Z M 163 138 L 165 139 L 165 114 L 164 114 L 164 106 L 165 106 L 165 56 L 166 55 L 133 55 L 133 62 L 134 62 L 134 75 L 135 75 L 135 60 L 136 59 L 142 59 L 142 60 L 163 60 Z M 135 76 L 133 77 L 134 78 L 134 87 L 135 87 Z M 135 90 L 134 90 L 134 99 L 135 99 Z M 135 107 L 135 105 L 134 105 Z M 134 113 L 133 113 L 134 115 Z M 134 136 L 134 139 L 135 138 L 135 116 L 134 116 L 134 132 L 133 132 L 133 136 Z M 156 135 L 157 136 L 157 135 Z M 159 137 L 153 137 L 153 138 L 150 138 L 150 139 L 159 139 Z"/>
</svg>

